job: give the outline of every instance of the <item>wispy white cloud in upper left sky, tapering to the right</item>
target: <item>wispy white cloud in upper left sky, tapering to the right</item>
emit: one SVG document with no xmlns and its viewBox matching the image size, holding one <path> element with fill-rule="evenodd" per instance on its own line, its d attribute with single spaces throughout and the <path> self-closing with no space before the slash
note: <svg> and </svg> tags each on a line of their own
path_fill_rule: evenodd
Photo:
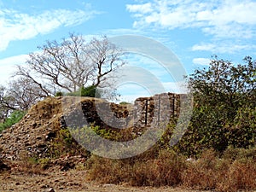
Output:
<svg viewBox="0 0 256 192">
<path fill-rule="evenodd" d="M 52 32 L 60 26 L 79 25 L 90 20 L 96 11 L 90 10 L 47 10 L 38 15 L 28 15 L 13 9 L 0 10 L 0 51 L 8 47 L 10 41 L 24 40 Z"/>
</svg>

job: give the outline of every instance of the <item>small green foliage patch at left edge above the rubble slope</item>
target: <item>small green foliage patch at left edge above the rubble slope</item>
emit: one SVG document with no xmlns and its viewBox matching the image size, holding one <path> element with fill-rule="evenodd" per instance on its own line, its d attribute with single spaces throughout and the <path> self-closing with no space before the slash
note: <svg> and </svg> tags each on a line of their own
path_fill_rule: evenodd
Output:
<svg viewBox="0 0 256 192">
<path fill-rule="evenodd" d="M 18 123 L 20 119 L 24 117 L 25 114 L 26 112 L 24 111 L 15 111 L 11 113 L 10 116 L 7 119 L 5 119 L 3 123 L 0 124 L 0 132 Z"/>
</svg>

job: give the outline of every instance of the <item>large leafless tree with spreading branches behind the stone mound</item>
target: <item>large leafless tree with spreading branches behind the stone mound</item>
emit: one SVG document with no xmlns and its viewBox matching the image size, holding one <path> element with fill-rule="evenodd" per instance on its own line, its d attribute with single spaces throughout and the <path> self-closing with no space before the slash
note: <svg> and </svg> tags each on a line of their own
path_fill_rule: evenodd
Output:
<svg viewBox="0 0 256 192">
<path fill-rule="evenodd" d="M 27 79 L 41 90 L 42 96 L 54 95 L 59 90 L 73 92 L 90 85 L 110 86 L 109 78 L 113 77 L 108 74 L 125 63 L 121 50 L 107 37 L 86 43 L 82 36 L 70 34 L 61 43 L 48 41 L 38 49 L 39 52 L 29 55 L 26 67 L 18 67 L 15 76 Z"/>
</svg>

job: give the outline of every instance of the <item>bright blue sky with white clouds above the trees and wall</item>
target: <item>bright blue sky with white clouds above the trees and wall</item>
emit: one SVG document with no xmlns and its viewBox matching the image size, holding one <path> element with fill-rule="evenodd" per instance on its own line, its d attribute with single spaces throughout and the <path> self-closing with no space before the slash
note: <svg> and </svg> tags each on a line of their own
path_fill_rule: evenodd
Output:
<svg viewBox="0 0 256 192">
<path fill-rule="evenodd" d="M 39 45 L 69 32 L 152 39 L 172 51 L 188 74 L 207 67 L 212 55 L 234 63 L 247 55 L 256 59 L 255 10 L 255 0 L 0 0 L 0 84 L 7 84 L 15 65 L 24 65 Z M 129 61 L 167 91 L 176 90 L 160 61 L 140 54 Z M 120 86 L 134 96 L 147 95 L 145 89 L 147 84 L 132 82 Z"/>
</svg>

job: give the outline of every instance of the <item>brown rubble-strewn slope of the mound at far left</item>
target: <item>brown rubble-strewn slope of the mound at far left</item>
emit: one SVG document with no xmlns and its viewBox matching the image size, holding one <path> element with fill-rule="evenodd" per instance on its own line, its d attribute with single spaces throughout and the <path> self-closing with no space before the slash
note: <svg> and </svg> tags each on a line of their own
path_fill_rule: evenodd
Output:
<svg viewBox="0 0 256 192">
<path fill-rule="evenodd" d="M 61 115 L 61 97 L 38 102 L 19 123 L 2 132 L 1 156 L 9 160 L 19 159 L 20 155 L 43 157 L 51 138 L 60 129 Z"/>
</svg>

